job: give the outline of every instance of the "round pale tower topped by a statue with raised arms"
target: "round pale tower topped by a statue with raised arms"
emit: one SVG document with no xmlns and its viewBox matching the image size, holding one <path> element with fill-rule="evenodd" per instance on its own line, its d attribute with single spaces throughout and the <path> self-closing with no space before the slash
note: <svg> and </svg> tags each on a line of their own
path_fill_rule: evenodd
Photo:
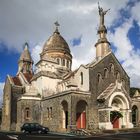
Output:
<svg viewBox="0 0 140 140">
<path fill-rule="evenodd" d="M 106 38 L 107 29 L 104 25 L 104 16 L 110 9 L 104 11 L 103 8 L 99 6 L 99 3 L 98 3 L 98 9 L 99 9 L 99 16 L 100 16 L 100 24 L 97 33 L 99 35 L 99 39 L 95 44 L 95 47 L 96 47 L 96 59 L 100 60 L 102 57 L 104 57 L 106 54 L 108 54 L 111 51 L 109 47 L 110 43 Z"/>
</svg>

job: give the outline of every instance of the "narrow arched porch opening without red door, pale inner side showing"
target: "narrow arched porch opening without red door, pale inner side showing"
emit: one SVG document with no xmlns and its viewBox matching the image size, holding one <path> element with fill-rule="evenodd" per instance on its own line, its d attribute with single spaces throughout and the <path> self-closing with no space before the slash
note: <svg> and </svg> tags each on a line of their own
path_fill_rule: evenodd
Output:
<svg viewBox="0 0 140 140">
<path fill-rule="evenodd" d="M 68 127 L 68 103 L 67 101 L 62 101 L 62 128 L 67 129 Z"/>
</svg>

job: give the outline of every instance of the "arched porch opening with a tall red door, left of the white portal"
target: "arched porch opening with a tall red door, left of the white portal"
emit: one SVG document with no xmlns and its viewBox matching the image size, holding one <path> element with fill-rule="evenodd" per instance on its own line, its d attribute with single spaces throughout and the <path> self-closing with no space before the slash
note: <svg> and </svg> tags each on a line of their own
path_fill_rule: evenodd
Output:
<svg viewBox="0 0 140 140">
<path fill-rule="evenodd" d="M 76 127 L 77 129 L 86 128 L 86 114 L 87 103 L 84 100 L 80 100 L 76 105 Z"/>
</svg>

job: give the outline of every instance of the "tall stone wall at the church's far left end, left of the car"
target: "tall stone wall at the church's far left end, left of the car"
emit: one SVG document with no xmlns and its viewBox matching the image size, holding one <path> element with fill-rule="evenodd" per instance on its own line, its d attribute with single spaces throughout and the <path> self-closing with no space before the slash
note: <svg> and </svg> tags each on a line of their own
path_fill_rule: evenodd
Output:
<svg viewBox="0 0 140 140">
<path fill-rule="evenodd" d="M 14 131 L 17 123 L 17 99 L 23 93 L 24 88 L 12 85 L 9 78 L 7 77 L 3 90 L 1 129 Z"/>
</svg>

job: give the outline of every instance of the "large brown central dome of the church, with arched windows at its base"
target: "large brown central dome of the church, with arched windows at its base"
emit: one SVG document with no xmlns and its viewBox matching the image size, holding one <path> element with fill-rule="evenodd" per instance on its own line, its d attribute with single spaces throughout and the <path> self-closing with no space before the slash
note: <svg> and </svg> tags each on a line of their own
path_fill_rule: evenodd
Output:
<svg viewBox="0 0 140 140">
<path fill-rule="evenodd" d="M 43 60 L 56 60 L 63 67 L 71 67 L 72 55 L 65 39 L 60 35 L 56 27 L 53 35 L 45 42 L 41 53 Z"/>
</svg>

